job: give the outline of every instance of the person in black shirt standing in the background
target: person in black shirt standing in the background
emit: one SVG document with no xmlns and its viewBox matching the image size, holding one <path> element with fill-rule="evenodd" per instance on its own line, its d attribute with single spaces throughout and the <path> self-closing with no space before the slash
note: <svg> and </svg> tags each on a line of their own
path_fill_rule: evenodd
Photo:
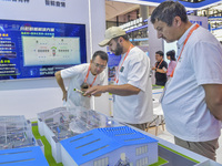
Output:
<svg viewBox="0 0 222 166">
<path fill-rule="evenodd" d="M 168 71 L 168 63 L 163 59 L 163 52 L 157 51 L 155 52 L 155 66 L 152 68 L 153 71 L 155 71 L 155 85 L 164 86 L 168 77 L 167 77 L 167 71 Z"/>
</svg>

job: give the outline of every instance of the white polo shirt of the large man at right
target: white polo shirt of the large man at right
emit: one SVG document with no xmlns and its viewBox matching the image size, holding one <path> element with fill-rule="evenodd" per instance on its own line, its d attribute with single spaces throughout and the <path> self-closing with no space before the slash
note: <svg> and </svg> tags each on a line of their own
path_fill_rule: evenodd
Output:
<svg viewBox="0 0 222 166">
<path fill-rule="evenodd" d="M 179 54 L 190 29 L 178 41 Z M 221 122 L 206 107 L 203 84 L 222 84 L 222 48 L 199 27 L 189 38 L 162 100 L 167 128 L 181 139 L 205 142 L 220 136 Z"/>
</svg>

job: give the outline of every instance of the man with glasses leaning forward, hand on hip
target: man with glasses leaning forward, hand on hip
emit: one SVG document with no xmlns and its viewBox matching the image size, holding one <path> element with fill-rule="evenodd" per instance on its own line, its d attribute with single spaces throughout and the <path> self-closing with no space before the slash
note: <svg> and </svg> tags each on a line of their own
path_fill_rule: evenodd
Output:
<svg viewBox="0 0 222 166">
<path fill-rule="evenodd" d="M 107 63 L 108 54 L 103 51 L 97 51 L 90 63 L 71 66 L 56 72 L 54 75 L 57 82 L 63 93 L 62 100 L 67 102 L 65 105 L 68 108 L 75 106 L 92 108 L 90 95 L 84 96 L 83 93 L 91 86 L 103 84 Z M 64 79 L 70 80 L 68 91 L 64 86 Z M 97 94 L 95 96 L 100 95 L 101 94 Z"/>
</svg>

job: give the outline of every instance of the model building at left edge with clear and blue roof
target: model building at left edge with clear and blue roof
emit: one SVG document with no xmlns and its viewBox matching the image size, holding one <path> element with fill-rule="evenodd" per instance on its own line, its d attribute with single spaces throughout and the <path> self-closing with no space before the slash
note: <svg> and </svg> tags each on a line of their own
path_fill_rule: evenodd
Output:
<svg viewBox="0 0 222 166">
<path fill-rule="evenodd" d="M 0 116 L 0 165 L 49 166 L 43 149 L 23 115 Z"/>
</svg>

